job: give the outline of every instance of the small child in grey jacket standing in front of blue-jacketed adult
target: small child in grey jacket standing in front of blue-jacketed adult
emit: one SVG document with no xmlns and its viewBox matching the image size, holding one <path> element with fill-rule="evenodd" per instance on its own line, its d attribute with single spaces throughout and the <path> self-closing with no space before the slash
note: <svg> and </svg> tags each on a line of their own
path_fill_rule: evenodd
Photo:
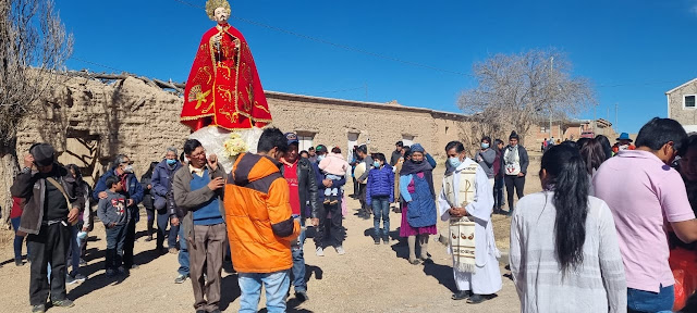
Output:
<svg viewBox="0 0 697 313">
<path fill-rule="evenodd" d="M 123 242 L 126 235 L 126 199 L 123 195 L 123 186 L 118 177 L 107 178 L 107 198 L 99 200 L 97 216 L 105 223 L 107 230 L 107 277 L 123 272 L 121 258 L 123 256 Z"/>
</svg>

